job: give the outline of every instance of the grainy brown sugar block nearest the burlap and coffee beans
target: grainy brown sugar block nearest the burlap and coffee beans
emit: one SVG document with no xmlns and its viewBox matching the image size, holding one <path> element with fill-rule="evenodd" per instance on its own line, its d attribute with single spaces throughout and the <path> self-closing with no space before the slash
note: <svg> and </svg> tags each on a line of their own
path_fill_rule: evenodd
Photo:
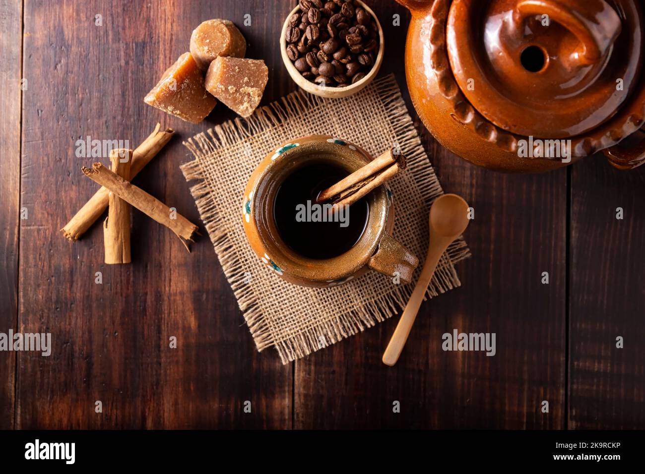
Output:
<svg viewBox="0 0 645 474">
<path fill-rule="evenodd" d="M 206 72 L 206 90 L 242 117 L 253 114 L 269 71 L 261 59 L 219 56 Z"/>
</svg>

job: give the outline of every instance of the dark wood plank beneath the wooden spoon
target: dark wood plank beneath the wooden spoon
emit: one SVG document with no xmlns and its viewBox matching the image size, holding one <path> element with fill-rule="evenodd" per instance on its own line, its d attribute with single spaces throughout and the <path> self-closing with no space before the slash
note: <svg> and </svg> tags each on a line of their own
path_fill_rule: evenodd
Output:
<svg viewBox="0 0 645 474">
<path fill-rule="evenodd" d="M 393 70 L 405 91 L 410 15 L 392 1 L 368 3 L 386 35 L 383 70 Z M 392 25 L 394 14 L 401 26 Z M 488 172 L 418 129 L 444 190 L 475 208 L 465 235 L 473 257 L 457 268 L 462 288 L 422 305 L 392 368 L 381 356 L 398 317 L 298 360 L 295 426 L 564 428 L 566 171 Z M 542 272 L 550 284 L 541 284 Z M 453 328 L 496 333 L 497 355 L 442 351 L 441 335 Z M 395 400 L 401 413 L 393 413 Z"/>
</svg>

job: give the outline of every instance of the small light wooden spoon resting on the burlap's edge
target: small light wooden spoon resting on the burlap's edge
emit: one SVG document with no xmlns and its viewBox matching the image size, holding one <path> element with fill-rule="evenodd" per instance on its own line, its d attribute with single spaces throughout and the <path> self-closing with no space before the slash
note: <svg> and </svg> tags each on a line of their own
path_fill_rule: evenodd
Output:
<svg viewBox="0 0 645 474">
<path fill-rule="evenodd" d="M 383 353 L 383 363 L 393 366 L 399 360 L 412 324 L 419 312 L 419 306 L 423 301 L 423 295 L 428 289 L 428 284 L 435 273 L 437 263 L 446 248 L 461 235 L 468 227 L 468 203 L 461 196 L 456 194 L 444 194 L 432 203 L 430 207 L 430 245 L 428 255 L 423 264 L 421 276 L 417 286 L 412 291 L 410 301 L 405 307 L 401 320 L 394 330 L 390 344 Z"/>
</svg>

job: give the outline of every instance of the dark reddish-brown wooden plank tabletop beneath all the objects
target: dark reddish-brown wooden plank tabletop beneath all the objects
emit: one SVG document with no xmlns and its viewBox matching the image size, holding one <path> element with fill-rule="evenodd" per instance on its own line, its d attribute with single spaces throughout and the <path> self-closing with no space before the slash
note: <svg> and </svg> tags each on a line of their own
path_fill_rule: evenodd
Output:
<svg viewBox="0 0 645 474">
<path fill-rule="evenodd" d="M 382 70 L 407 94 L 410 15 L 368 3 L 385 30 Z M 215 17 L 266 61 L 263 104 L 292 92 L 277 41 L 294 5 L 0 0 L 0 331 L 51 332 L 54 345 L 50 357 L 0 353 L 0 428 L 645 428 L 645 166 L 619 172 L 593 157 L 542 175 L 488 172 L 439 146 L 406 95 L 444 190 L 475 221 L 462 287 L 422 306 L 393 368 L 381 354 L 397 318 L 286 366 L 257 353 L 208 237 L 187 253 L 134 212 L 127 266 L 103 264 L 100 225 L 63 238 L 96 189 L 75 141 L 138 144 L 157 121 L 180 137 L 135 183 L 200 222 L 181 140 L 234 115 L 218 106 L 192 125 L 143 97 Z M 497 354 L 442 351 L 453 328 L 496 333 Z"/>
</svg>

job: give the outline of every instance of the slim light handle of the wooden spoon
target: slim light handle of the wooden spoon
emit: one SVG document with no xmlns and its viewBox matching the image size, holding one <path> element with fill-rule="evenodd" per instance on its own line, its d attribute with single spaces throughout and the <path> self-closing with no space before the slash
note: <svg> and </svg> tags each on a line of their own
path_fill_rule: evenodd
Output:
<svg viewBox="0 0 645 474">
<path fill-rule="evenodd" d="M 443 239 L 442 239 L 443 240 Z M 406 341 L 408 341 L 408 335 L 410 330 L 412 330 L 412 324 L 417 317 L 419 312 L 419 307 L 423 302 L 423 295 L 428 289 L 430 280 L 432 280 L 432 275 L 435 273 L 439 259 L 441 258 L 442 253 L 448 248 L 448 245 L 451 241 L 448 242 L 437 242 L 438 245 L 430 246 L 428 249 L 428 255 L 426 256 L 426 262 L 423 264 L 423 270 L 421 270 L 421 275 L 419 276 L 419 281 L 412 291 L 412 296 L 410 301 L 406 304 L 405 310 L 401 315 L 399 324 L 394 330 L 392 339 L 383 353 L 383 363 L 388 366 L 393 366 L 399 360 L 399 355 L 405 346 Z"/>
</svg>

